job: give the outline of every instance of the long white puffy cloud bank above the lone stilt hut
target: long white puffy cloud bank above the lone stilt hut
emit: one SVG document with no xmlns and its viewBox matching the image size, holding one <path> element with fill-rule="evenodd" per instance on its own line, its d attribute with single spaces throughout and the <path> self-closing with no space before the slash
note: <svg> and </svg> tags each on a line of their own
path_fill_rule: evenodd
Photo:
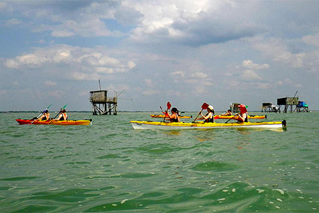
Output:
<svg viewBox="0 0 319 213">
<path fill-rule="evenodd" d="M 136 64 L 132 60 L 125 62 L 118 58 L 108 56 L 108 50 L 94 48 L 79 48 L 69 45 L 55 45 L 47 48 L 37 48 L 33 53 L 26 53 L 15 59 L 7 59 L 7 68 L 28 68 L 67 65 L 67 72 L 98 72 L 100 74 L 113 74 L 128 72 Z M 77 80 L 84 79 L 82 74 L 73 74 Z"/>
</svg>

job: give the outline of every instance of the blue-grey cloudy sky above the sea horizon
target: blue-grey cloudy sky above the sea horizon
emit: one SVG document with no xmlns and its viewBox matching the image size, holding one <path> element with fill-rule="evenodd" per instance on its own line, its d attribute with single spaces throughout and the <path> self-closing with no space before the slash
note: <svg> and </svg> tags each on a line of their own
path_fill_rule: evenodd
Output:
<svg viewBox="0 0 319 213">
<path fill-rule="evenodd" d="M 319 1 L 0 1 L 0 111 L 319 109 Z"/>
</svg>

